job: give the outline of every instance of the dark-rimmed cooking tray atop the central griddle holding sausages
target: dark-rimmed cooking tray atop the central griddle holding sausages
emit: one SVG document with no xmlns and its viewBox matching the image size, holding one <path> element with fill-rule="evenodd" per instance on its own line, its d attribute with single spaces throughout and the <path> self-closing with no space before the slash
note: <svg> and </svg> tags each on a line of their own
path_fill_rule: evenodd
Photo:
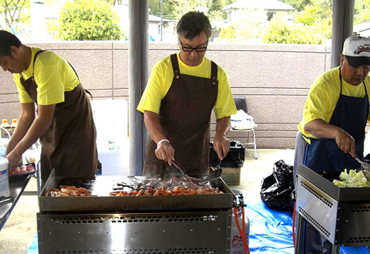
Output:
<svg viewBox="0 0 370 254">
<path fill-rule="evenodd" d="M 144 176 L 136 176 L 145 179 Z M 97 197 L 48 197 L 49 188 L 58 188 L 64 179 L 56 177 L 51 171 L 47 183 L 39 195 L 40 212 L 135 212 L 156 210 L 194 210 L 194 209 L 223 209 L 233 207 L 233 192 L 222 179 L 211 181 L 225 194 L 217 195 L 168 195 L 168 196 L 130 196 L 111 197 L 113 182 L 120 181 L 117 176 L 97 176 L 89 181 L 88 187 L 92 195 Z"/>
</svg>

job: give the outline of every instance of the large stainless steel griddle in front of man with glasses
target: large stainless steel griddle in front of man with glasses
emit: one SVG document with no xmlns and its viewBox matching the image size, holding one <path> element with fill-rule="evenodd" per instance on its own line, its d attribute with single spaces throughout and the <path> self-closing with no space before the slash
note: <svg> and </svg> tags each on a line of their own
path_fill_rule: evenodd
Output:
<svg viewBox="0 0 370 254">
<path fill-rule="evenodd" d="M 75 181 L 97 197 L 45 196 L 68 181 L 53 172 L 39 196 L 39 253 L 229 252 L 234 195 L 221 179 L 212 182 L 225 192 L 217 195 L 111 197 L 120 179 L 97 176 Z"/>
</svg>

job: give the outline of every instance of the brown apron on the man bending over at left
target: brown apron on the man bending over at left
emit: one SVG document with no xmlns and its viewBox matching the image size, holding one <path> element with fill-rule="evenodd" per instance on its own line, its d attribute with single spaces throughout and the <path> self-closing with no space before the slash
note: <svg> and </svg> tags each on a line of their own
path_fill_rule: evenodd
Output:
<svg viewBox="0 0 370 254">
<path fill-rule="evenodd" d="M 35 54 L 34 66 L 37 55 L 42 52 Z M 37 103 L 37 84 L 33 76 L 23 80 L 20 75 L 20 83 Z M 73 90 L 64 92 L 64 102 L 56 104 L 51 125 L 40 137 L 42 181 L 47 181 L 51 169 L 55 169 L 56 176 L 94 177 L 98 168 L 96 140 L 90 101 L 79 83 Z"/>
</svg>

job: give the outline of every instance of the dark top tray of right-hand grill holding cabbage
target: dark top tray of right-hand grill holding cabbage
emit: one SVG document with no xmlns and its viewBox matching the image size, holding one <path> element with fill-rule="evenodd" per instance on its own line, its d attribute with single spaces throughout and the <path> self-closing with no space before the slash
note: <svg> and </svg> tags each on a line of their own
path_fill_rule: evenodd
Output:
<svg viewBox="0 0 370 254">
<path fill-rule="evenodd" d="M 298 167 L 298 174 L 307 179 L 336 201 L 369 201 L 370 188 L 340 188 L 335 186 L 333 179 L 339 179 L 340 172 L 315 172 L 302 164 Z"/>
</svg>

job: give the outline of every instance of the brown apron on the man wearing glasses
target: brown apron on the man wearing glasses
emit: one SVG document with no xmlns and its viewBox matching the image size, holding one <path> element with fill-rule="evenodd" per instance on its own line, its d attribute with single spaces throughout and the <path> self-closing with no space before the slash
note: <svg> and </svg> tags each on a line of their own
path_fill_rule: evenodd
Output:
<svg viewBox="0 0 370 254">
<path fill-rule="evenodd" d="M 175 149 L 175 162 L 189 176 L 208 174 L 210 119 L 218 93 L 217 65 L 211 63 L 211 78 L 180 73 L 176 54 L 171 55 L 173 81 L 162 99 L 159 121 Z M 178 174 L 157 159 L 156 143 L 148 137 L 143 175 L 164 178 Z"/>
</svg>

